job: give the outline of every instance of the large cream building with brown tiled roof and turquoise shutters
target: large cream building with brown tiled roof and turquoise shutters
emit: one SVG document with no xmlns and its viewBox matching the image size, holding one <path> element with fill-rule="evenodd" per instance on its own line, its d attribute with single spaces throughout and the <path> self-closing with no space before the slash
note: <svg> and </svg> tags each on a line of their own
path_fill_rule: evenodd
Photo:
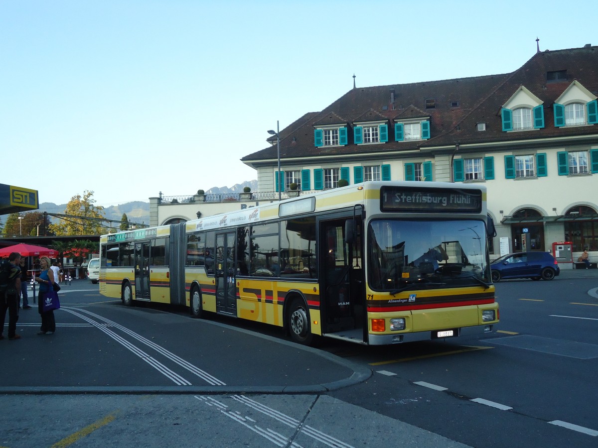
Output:
<svg viewBox="0 0 598 448">
<path fill-rule="evenodd" d="M 242 161 L 258 191 L 285 195 L 340 179 L 483 182 L 495 254 L 526 233 L 529 250 L 571 241 L 596 260 L 597 95 L 598 47 L 538 51 L 512 73 L 354 87 Z"/>
</svg>

